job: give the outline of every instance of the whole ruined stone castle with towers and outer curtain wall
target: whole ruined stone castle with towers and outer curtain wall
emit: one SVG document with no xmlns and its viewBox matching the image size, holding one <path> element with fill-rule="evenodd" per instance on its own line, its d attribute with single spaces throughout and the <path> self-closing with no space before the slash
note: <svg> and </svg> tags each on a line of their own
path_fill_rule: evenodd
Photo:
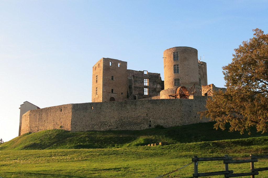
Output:
<svg viewBox="0 0 268 178">
<path fill-rule="evenodd" d="M 21 105 L 19 135 L 47 129 L 69 131 L 142 130 L 199 122 L 199 111 L 215 90 L 207 85 L 207 65 L 197 50 L 174 47 L 163 53 L 159 73 L 127 69 L 127 62 L 102 58 L 92 67 L 92 102 L 40 109 Z M 24 106 L 25 105 L 25 106 Z"/>
</svg>

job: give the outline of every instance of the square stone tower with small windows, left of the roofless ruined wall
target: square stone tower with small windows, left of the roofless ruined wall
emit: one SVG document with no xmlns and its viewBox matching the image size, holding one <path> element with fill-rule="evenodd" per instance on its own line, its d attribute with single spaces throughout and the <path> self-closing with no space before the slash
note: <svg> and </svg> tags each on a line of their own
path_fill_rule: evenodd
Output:
<svg viewBox="0 0 268 178">
<path fill-rule="evenodd" d="M 92 68 L 92 102 L 127 100 L 127 62 L 102 58 Z"/>
</svg>

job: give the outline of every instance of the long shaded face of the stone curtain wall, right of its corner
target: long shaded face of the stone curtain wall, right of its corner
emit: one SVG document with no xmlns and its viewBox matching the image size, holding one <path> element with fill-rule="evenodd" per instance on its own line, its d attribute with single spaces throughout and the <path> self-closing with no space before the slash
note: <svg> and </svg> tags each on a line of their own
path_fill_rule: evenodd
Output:
<svg viewBox="0 0 268 178">
<path fill-rule="evenodd" d="M 194 96 L 194 99 L 74 104 L 72 131 L 143 130 L 155 125 L 173 127 L 208 122 L 208 118 L 200 120 L 197 114 L 205 110 L 206 99 L 204 96 Z"/>
</svg>

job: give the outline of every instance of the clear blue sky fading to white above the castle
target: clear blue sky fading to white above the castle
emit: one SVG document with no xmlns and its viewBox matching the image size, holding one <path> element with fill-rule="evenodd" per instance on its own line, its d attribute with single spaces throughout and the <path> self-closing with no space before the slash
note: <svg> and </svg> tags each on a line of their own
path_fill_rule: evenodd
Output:
<svg viewBox="0 0 268 178">
<path fill-rule="evenodd" d="M 102 57 L 163 76 L 163 51 L 198 50 L 208 83 L 224 87 L 233 49 L 268 33 L 267 0 L 0 0 L 0 137 L 18 136 L 18 109 L 91 102 Z"/>
</svg>

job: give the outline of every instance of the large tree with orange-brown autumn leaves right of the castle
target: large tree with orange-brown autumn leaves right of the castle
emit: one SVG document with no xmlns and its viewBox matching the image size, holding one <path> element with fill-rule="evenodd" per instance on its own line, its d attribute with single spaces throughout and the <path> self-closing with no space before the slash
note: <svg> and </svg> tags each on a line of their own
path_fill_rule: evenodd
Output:
<svg viewBox="0 0 268 178">
<path fill-rule="evenodd" d="M 207 100 L 203 116 L 216 121 L 214 128 L 248 131 L 268 129 L 268 34 L 256 28 L 254 37 L 234 49 L 232 63 L 222 67 L 226 92 L 214 92 Z"/>
</svg>

